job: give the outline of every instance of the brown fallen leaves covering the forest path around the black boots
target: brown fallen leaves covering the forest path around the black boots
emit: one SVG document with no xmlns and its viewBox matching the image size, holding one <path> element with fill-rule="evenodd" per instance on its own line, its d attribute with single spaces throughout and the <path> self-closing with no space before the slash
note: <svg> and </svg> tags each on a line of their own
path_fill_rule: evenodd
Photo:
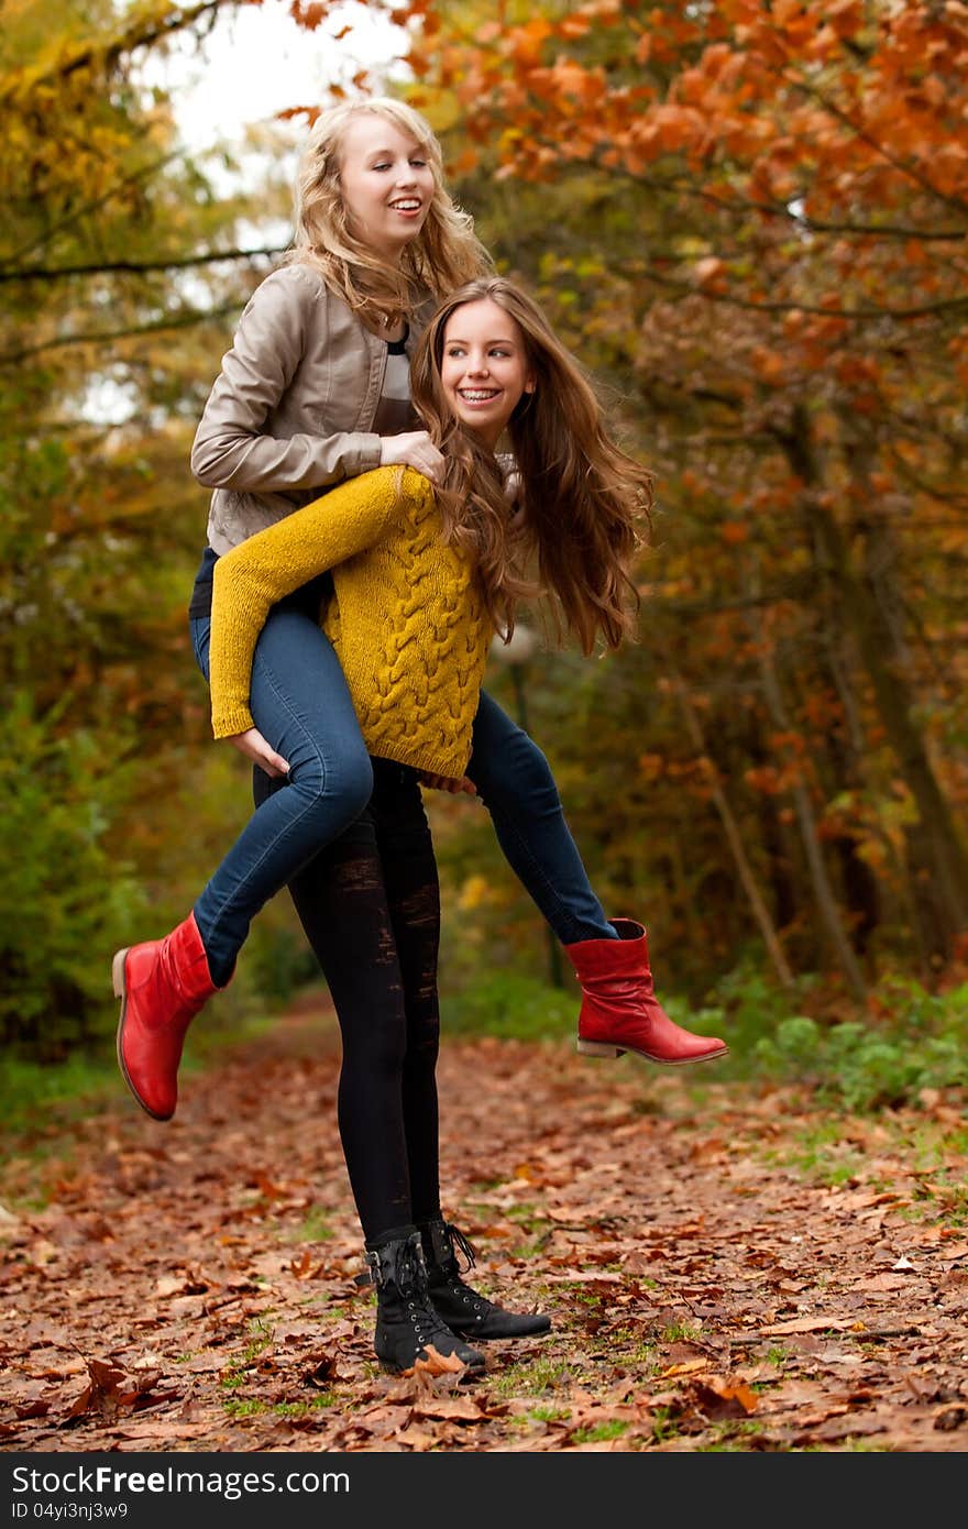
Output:
<svg viewBox="0 0 968 1529">
<path fill-rule="evenodd" d="M 930 1202 L 914 1214 L 902 1122 L 838 1122 L 876 1144 L 876 1177 L 832 1187 L 795 1167 L 809 1118 L 789 1093 L 705 1084 L 697 1112 L 688 1079 L 555 1047 L 451 1043 L 440 1061 L 473 1283 L 552 1332 L 485 1346 L 480 1376 L 434 1353 L 382 1375 L 318 1026 L 193 1075 L 167 1127 L 119 1101 L 75 1128 L 43 1209 L 11 1157 L 5 1448 L 963 1446 L 968 1243 Z M 310 1121 L 307 1093 L 329 1101 Z"/>
</svg>

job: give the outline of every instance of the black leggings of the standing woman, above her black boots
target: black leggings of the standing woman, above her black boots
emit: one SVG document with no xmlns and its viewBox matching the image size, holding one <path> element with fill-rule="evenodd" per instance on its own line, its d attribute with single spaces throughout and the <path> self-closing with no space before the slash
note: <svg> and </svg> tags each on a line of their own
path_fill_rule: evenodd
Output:
<svg viewBox="0 0 968 1529">
<path fill-rule="evenodd" d="M 275 783 L 255 777 L 258 800 Z M 369 806 L 289 891 L 339 1020 L 339 1138 L 373 1242 L 440 1211 L 440 893 L 416 774 L 375 758 Z"/>
</svg>

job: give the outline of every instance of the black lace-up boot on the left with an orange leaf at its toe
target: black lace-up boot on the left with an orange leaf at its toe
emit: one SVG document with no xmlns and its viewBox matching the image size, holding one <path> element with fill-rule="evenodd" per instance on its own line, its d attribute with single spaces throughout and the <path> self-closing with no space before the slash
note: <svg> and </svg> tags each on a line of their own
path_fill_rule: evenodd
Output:
<svg viewBox="0 0 968 1529">
<path fill-rule="evenodd" d="M 376 1286 L 373 1349 L 391 1375 L 469 1373 L 483 1370 L 483 1355 L 447 1327 L 430 1300 L 421 1234 L 414 1226 L 367 1245 L 369 1280 Z M 364 1277 L 365 1278 L 365 1277 Z"/>
</svg>

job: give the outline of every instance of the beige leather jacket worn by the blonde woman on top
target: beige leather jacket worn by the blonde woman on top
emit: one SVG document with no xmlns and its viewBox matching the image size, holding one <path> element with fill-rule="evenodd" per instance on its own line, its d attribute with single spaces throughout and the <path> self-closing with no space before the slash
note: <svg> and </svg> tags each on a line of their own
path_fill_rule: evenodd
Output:
<svg viewBox="0 0 968 1529">
<path fill-rule="evenodd" d="M 408 355 L 431 309 L 431 298 L 417 309 Z M 385 344 L 312 266 L 281 266 L 260 283 L 191 448 L 194 477 L 214 489 L 208 541 L 217 553 L 379 466 L 372 427 L 385 367 Z"/>
</svg>

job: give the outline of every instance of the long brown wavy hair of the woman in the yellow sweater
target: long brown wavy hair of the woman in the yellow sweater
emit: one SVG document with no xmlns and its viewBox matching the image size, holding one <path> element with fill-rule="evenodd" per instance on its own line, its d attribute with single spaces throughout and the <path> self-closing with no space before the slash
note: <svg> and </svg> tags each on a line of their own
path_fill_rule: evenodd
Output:
<svg viewBox="0 0 968 1529">
<path fill-rule="evenodd" d="M 508 424 L 520 476 L 514 517 L 494 453 L 454 417 L 440 382 L 450 318 L 485 298 L 518 326 L 535 378 Z M 572 631 L 587 654 L 598 633 L 610 648 L 635 639 L 641 601 L 630 570 L 653 479 L 606 433 L 595 390 L 538 304 L 505 277 L 466 283 L 437 306 L 410 375 L 414 407 L 447 463 L 437 488 L 445 535 L 474 555 L 495 627 L 509 638 L 517 602 L 540 593 L 552 596 L 560 642 Z"/>
</svg>

